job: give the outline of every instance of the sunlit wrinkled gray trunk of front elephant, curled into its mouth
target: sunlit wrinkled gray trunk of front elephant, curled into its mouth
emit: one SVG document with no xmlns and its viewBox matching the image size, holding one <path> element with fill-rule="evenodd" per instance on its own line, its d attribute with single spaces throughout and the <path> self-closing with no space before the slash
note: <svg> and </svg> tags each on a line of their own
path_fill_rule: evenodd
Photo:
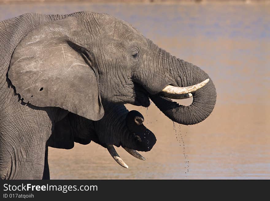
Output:
<svg viewBox="0 0 270 201">
<path fill-rule="evenodd" d="M 160 111 L 179 124 L 192 125 L 206 119 L 214 109 L 217 96 L 210 77 L 198 66 L 176 57 L 170 56 L 169 61 L 167 57 L 167 64 L 166 71 L 170 72 L 170 77 L 175 80 L 175 83 L 172 83 L 173 85 L 187 87 L 206 79 L 209 79 L 209 82 L 197 91 L 191 92 L 193 102 L 190 106 L 179 105 L 160 94 L 150 95 L 149 97 Z"/>
</svg>

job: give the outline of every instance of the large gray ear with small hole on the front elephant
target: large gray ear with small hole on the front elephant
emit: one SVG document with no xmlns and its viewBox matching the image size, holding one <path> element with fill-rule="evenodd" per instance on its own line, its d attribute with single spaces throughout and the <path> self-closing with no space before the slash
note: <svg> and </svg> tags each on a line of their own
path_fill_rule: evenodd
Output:
<svg viewBox="0 0 270 201">
<path fill-rule="evenodd" d="M 24 102 L 60 107 L 96 121 L 104 110 L 94 59 L 72 42 L 81 29 L 75 17 L 33 29 L 14 50 L 8 77 Z"/>
</svg>

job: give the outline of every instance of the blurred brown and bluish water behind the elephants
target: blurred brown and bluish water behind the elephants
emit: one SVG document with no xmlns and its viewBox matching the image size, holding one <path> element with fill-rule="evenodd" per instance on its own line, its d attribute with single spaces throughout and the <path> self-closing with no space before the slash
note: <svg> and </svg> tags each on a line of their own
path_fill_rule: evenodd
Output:
<svg viewBox="0 0 270 201">
<path fill-rule="evenodd" d="M 270 4 L 0 5 L 0 20 L 27 12 L 102 12 L 133 24 L 178 58 L 198 65 L 217 89 L 203 122 L 173 124 L 154 104 L 127 105 L 145 117 L 157 143 L 140 161 L 116 148 L 120 167 L 94 142 L 49 148 L 51 179 L 270 179 Z"/>
</svg>

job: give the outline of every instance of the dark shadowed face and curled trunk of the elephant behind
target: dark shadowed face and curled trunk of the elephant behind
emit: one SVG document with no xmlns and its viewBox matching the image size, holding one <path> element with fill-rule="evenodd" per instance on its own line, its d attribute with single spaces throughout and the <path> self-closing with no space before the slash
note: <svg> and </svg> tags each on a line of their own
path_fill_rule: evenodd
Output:
<svg viewBox="0 0 270 201">
<path fill-rule="evenodd" d="M 124 105 L 102 102 L 105 114 L 94 121 L 97 140 L 103 147 L 115 145 L 137 151 L 150 151 L 156 143 L 155 135 L 143 125 L 144 117 Z"/>
</svg>

